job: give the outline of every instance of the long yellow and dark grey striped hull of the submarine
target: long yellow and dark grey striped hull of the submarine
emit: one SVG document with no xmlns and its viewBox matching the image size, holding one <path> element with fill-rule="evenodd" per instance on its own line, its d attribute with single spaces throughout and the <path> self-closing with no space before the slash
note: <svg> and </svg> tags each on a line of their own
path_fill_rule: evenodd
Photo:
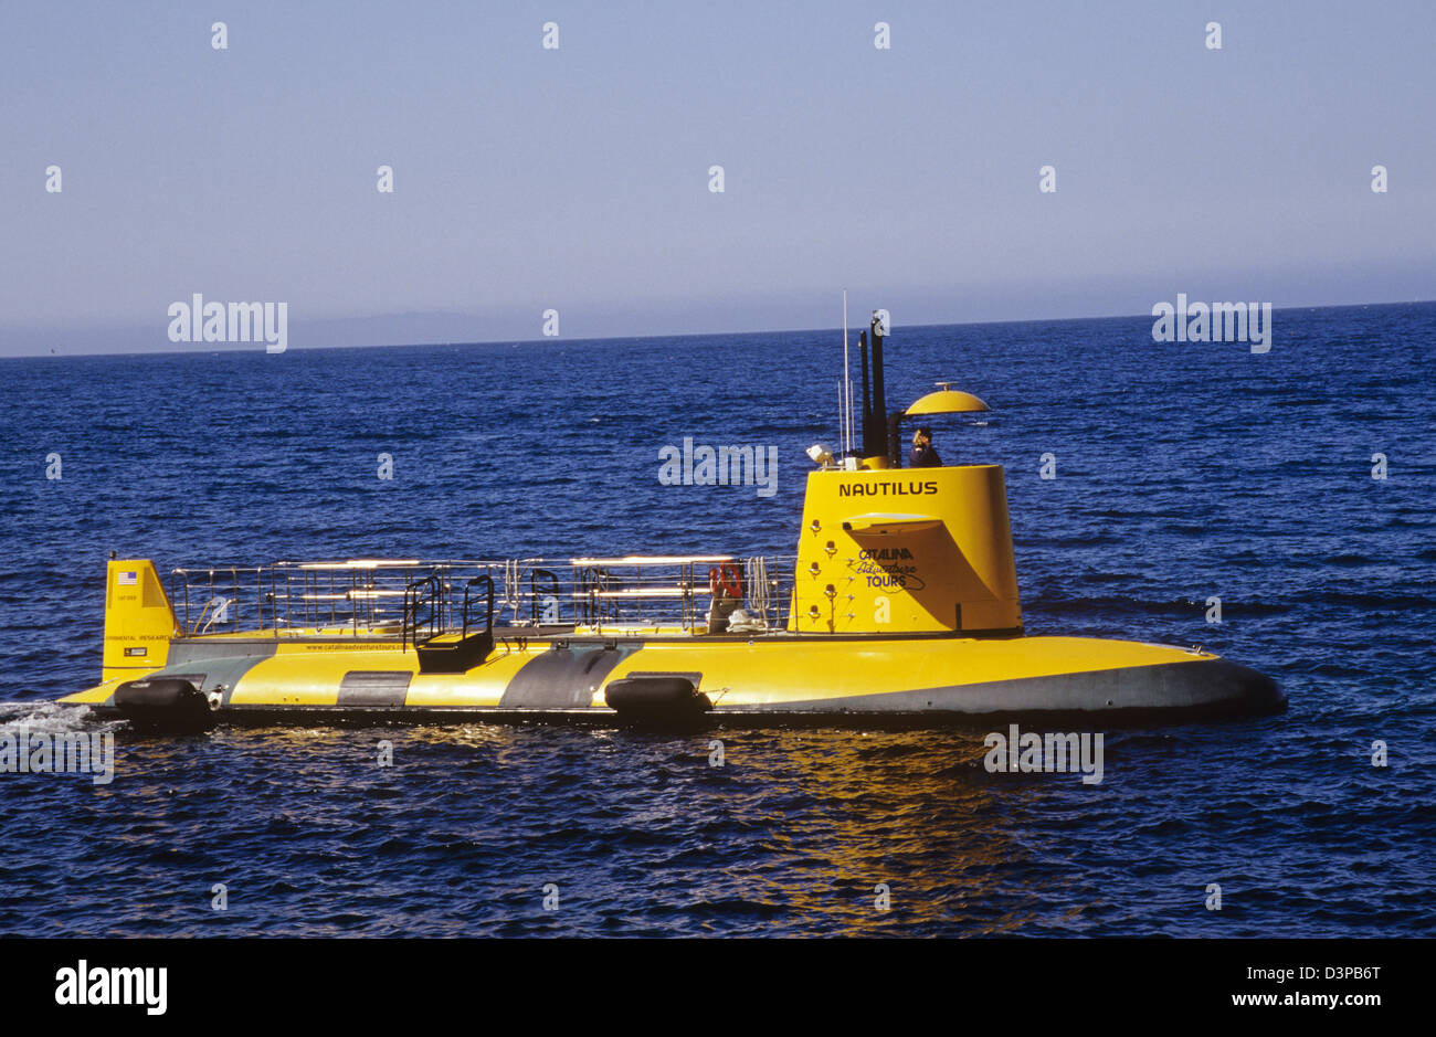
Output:
<svg viewBox="0 0 1436 1037">
<path fill-rule="evenodd" d="M 177 641 L 169 655 L 149 679 L 217 695 L 220 724 L 605 724 L 622 720 L 626 702 L 642 711 L 662 701 L 633 695 L 643 688 L 666 688 L 689 721 L 742 725 L 1122 724 L 1256 717 L 1287 704 L 1275 681 L 1216 655 L 1088 638 L 498 639 L 462 674 L 426 674 L 412 648 L 382 643 L 200 638 Z M 108 682 L 62 701 L 123 715 L 116 689 Z"/>
</svg>

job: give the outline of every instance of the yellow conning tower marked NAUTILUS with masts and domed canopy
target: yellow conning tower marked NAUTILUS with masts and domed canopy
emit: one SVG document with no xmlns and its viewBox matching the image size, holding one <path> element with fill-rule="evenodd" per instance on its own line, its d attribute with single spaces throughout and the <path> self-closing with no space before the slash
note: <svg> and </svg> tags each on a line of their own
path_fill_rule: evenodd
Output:
<svg viewBox="0 0 1436 1037">
<path fill-rule="evenodd" d="M 820 467 L 807 477 L 788 628 L 1018 635 L 1022 605 L 1002 467 L 902 467 L 903 421 L 987 411 L 988 405 L 939 382 L 936 392 L 906 411 L 885 414 L 886 336 L 887 313 L 875 310 L 869 332 L 859 339 L 862 455 L 808 451 Z M 844 429 L 850 441 L 846 424 Z"/>
</svg>

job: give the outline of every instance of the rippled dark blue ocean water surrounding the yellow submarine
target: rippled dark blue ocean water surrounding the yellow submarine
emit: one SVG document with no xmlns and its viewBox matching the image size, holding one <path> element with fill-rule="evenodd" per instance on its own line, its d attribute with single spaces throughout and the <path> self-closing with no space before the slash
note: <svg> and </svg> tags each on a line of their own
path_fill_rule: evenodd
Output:
<svg viewBox="0 0 1436 1037">
<path fill-rule="evenodd" d="M 1030 632 L 1200 643 L 1285 714 L 1110 731 L 1097 786 L 964 730 L 115 728 L 109 786 L 0 774 L 0 934 L 1432 934 L 1436 304 L 1150 327 L 899 326 L 889 404 L 992 405 L 938 447 L 1007 465 Z M 836 332 L 0 361 L 0 730 L 99 727 L 49 701 L 111 550 L 787 554 L 839 372 Z M 684 437 L 775 445 L 777 493 L 661 485 Z"/>
</svg>

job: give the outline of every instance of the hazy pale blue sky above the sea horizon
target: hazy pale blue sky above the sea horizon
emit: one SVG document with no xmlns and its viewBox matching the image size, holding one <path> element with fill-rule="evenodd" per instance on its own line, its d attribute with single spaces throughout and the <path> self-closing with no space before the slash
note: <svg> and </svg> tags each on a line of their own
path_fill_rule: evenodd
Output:
<svg viewBox="0 0 1436 1037">
<path fill-rule="evenodd" d="M 396 342 L 1432 299 L 1432 40 L 1429 3 L 10 1 L 0 352 L 174 348 L 194 292 Z"/>
</svg>

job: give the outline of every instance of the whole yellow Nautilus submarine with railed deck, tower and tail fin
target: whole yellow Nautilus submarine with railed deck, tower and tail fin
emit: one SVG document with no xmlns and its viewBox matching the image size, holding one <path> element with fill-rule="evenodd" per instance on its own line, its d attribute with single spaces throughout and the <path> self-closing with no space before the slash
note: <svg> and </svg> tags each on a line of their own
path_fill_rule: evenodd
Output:
<svg viewBox="0 0 1436 1037">
<path fill-rule="evenodd" d="M 1025 635 L 1001 465 L 902 467 L 903 422 L 988 406 L 939 383 L 886 414 L 887 320 L 859 339 L 862 450 L 849 398 L 840 455 L 808 451 L 796 556 L 276 562 L 177 569 L 168 587 L 112 556 L 102 681 L 60 702 L 152 730 L 1285 708 L 1275 681 L 1198 648 Z"/>
</svg>

